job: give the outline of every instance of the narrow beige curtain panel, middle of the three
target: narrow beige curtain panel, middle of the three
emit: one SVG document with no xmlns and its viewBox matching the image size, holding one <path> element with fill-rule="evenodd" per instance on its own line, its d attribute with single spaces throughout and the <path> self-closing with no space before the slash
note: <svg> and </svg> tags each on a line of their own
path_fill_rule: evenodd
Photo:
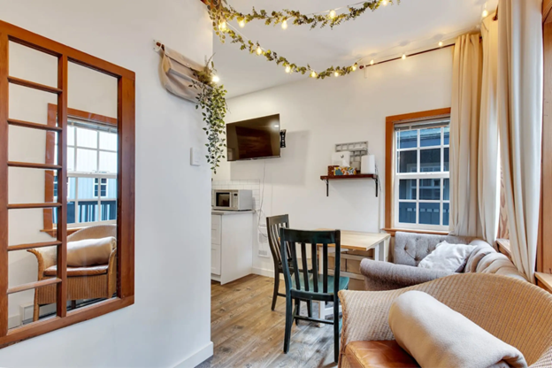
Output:
<svg viewBox="0 0 552 368">
<path fill-rule="evenodd" d="M 498 22 L 495 14 L 481 24 L 483 69 L 479 122 L 478 195 L 483 239 L 495 244 L 500 213 L 498 153 Z"/>
</svg>

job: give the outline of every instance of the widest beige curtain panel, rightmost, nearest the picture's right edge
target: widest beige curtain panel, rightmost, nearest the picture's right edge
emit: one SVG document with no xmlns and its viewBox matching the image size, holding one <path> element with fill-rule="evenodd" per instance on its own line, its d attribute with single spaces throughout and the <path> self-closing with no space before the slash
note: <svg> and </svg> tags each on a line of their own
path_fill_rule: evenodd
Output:
<svg viewBox="0 0 552 368">
<path fill-rule="evenodd" d="M 541 6 L 541 0 L 502 0 L 498 43 L 498 119 L 510 247 L 517 269 L 533 282 L 540 210 Z"/>
</svg>

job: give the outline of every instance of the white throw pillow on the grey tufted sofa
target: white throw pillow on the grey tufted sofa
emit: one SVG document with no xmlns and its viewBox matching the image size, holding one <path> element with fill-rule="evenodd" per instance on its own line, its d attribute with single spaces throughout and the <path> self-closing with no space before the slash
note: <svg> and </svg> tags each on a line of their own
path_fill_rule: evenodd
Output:
<svg viewBox="0 0 552 368">
<path fill-rule="evenodd" d="M 438 271 L 462 272 L 468 257 L 475 248 L 474 245 L 440 242 L 433 252 L 422 259 L 418 267 Z"/>
</svg>

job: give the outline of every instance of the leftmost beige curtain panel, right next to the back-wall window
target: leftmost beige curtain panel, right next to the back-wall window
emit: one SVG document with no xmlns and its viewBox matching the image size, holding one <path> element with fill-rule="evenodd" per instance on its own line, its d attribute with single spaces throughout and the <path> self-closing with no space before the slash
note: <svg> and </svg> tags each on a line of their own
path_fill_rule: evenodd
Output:
<svg viewBox="0 0 552 368">
<path fill-rule="evenodd" d="M 482 52 L 479 35 L 462 35 L 454 48 L 450 114 L 450 233 L 481 235 L 478 154 Z"/>
</svg>

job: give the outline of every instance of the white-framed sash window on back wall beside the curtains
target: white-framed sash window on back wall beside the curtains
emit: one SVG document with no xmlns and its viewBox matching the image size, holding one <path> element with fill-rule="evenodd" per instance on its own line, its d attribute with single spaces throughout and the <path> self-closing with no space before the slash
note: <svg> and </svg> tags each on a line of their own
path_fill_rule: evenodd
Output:
<svg viewBox="0 0 552 368">
<path fill-rule="evenodd" d="M 449 122 L 395 125 L 395 227 L 448 230 Z"/>
</svg>

